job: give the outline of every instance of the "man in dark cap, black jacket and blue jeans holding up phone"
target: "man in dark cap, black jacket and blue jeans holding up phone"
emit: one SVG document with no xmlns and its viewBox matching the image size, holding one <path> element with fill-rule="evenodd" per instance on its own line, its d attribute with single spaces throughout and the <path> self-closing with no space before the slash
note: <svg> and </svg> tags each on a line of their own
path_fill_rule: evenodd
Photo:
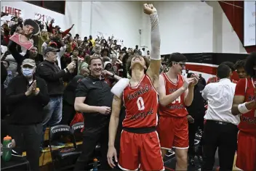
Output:
<svg viewBox="0 0 256 171">
<path fill-rule="evenodd" d="M 44 107 L 43 134 L 47 125 L 52 127 L 60 123 L 63 110 L 63 77 L 72 73 L 76 68 L 76 63 L 71 62 L 64 70 L 60 70 L 55 63 L 59 51 L 51 46 L 47 47 L 44 51 L 44 62 L 39 64 L 37 70 L 39 77 L 47 82 L 49 92 L 49 104 Z M 44 135 L 42 135 L 42 141 L 44 141 Z"/>
</svg>

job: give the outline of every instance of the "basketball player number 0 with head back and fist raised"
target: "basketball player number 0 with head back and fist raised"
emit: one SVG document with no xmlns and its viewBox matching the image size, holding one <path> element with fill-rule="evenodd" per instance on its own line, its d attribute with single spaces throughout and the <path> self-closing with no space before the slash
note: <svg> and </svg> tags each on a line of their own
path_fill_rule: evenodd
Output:
<svg viewBox="0 0 256 171">
<path fill-rule="evenodd" d="M 130 57 L 127 61 L 128 83 L 123 85 L 122 79 L 112 88 L 115 94 L 109 124 L 108 164 L 115 167 L 116 149 L 113 146 L 119 124 L 121 102 L 126 107 L 126 117 L 120 140 L 119 167 L 122 170 L 164 170 L 159 138 L 156 133 L 158 124 L 159 70 L 161 67 L 159 19 L 156 9 L 151 4 L 144 4 L 145 14 L 151 19 L 151 62 L 148 67 L 147 57 Z M 147 70 L 148 69 L 148 70 Z M 146 72 L 145 72 L 146 71 Z M 124 78 L 123 78 L 124 79 Z M 121 84 L 120 84 L 121 83 Z M 121 96 L 115 89 L 121 89 Z"/>
</svg>

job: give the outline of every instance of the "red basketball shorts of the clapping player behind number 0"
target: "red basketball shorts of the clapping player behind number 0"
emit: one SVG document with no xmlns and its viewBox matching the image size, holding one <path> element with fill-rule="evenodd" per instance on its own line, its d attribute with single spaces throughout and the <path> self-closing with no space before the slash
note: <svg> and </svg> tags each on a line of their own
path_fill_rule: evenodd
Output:
<svg viewBox="0 0 256 171">
<path fill-rule="evenodd" d="M 188 149 L 187 117 L 162 117 L 158 127 L 162 149 Z"/>
</svg>

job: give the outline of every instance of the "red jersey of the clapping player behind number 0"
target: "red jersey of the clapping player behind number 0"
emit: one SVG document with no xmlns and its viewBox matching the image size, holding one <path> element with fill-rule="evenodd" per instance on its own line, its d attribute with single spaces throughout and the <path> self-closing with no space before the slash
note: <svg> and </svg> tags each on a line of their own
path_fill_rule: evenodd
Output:
<svg viewBox="0 0 256 171">
<path fill-rule="evenodd" d="M 174 93 L 183 86 L 184 80 L 182 75 L 177 75 L 177 83 L 172 83 L 165 73 L 162 76 L 164 77 L 166 95 Z M 159 104 L 159 114 L 161 116 L 185 117 L 188 114 L 185 108 L 185 93 L 182 93 L 181 96 L 166 107 Z"/>
</svg>

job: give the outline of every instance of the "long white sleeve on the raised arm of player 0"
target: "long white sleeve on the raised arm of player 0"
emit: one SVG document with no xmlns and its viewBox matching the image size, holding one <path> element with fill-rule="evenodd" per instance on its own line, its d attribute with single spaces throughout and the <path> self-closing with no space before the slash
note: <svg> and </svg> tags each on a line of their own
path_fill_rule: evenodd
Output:
<svg viewBox="0 0 256 171">
<path fill-rule="evenodd" d="M 150 15 L 151 18 L 151 59 L 160 60 L 160 31 L 159 31 L 159 16 L 157 12 Z"/>
</svg>

